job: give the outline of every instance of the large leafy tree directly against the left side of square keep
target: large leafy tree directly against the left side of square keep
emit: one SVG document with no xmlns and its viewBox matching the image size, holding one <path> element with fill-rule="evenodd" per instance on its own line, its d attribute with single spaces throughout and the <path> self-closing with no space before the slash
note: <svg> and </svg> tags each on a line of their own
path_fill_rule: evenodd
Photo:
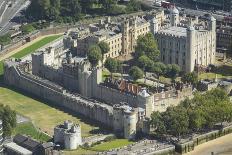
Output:
<svg viewBox="0 0 232 155">
<path fill-rule="evenodd" d="M 138 37 L 135 52 L 137 58 L 146 55 L 152 61 L 159 59 L 160 51 L 158 50 L 157 42 L 152 33 Z"/>
</svg>

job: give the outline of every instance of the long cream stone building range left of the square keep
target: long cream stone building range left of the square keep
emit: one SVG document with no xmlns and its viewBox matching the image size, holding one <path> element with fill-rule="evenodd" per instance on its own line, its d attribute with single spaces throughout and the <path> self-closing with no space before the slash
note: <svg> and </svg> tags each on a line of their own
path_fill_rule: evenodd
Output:
<svg viewBox="0 0 232 155">
<path fill-rule="evenodd" d="M 79 56 L 86 56 L 91 45 L 104 41 L 110 47 L 104 58 L 115 58 L 134 52 L 138 36 L 154 32 L 164 20 L 164 11 L 152 11 L 141 16 L 123 18 L 118 22 L 107 17 L 99 23 L 70 30 L 64 40 L 67 47 L 76 47 Z"/>
</svg>

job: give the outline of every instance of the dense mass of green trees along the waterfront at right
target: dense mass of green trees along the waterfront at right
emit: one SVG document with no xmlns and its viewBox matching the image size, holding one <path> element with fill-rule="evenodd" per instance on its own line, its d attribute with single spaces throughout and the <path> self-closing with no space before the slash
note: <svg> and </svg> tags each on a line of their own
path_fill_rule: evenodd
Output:
<svg viewBox="0 0 232 155">
<path fill-rule="evenodd" d="M 163 113 L 154 112 L 151 115 L 151 126 L 156 134 L 164 134 L 165 131 L 165 134 L 177 137 L 231 121 L 232 103 L 226 92 L 219 88 L 205 94 L 196 93 L 193 99 L 186 99 Z"/>
</svg>

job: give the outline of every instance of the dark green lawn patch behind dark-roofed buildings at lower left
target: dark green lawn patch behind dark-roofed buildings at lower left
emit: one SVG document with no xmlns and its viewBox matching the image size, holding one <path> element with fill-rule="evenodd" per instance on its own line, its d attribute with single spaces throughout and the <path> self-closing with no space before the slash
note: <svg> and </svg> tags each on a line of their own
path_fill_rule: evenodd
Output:
<svg viewBox="0 0 232 155">
<path fill-rule="evenodd" d="M 14 135 L 16 134 L 25 134 L 41 142 L 47 142 L 52 138 L 36 130 L 31 122 L 17 124 L 17 127 L 14 130 Z"/>
</svg>

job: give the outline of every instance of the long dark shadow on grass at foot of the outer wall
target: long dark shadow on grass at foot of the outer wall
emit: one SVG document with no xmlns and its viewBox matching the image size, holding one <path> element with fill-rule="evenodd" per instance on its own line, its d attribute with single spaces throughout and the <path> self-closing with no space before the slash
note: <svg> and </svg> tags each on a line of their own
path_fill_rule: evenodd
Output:
<svg viewBox="0 0 232 155">
<path fill-rule="evenodd" d="M 41 99 L 39 98 L 38 96 L 36 95 L 33 95 L 32 93 L 28 93 L 26 91 L 23 91 L 22 89 L 18 89 L 16 87 L 11 87 L 11 86 L 7 86 L 4 84 L 3 82 L 3 76 L 0 75 L 0 87 L 3 87 L 3 88 L 7 88 L 7 89 L 10 89 L 12 91 L 15 91 L 17 93 L 20 93 L 26 97 L 29 97 L 29 98 L 32 98 L 34 100 L 37 100 L 39 102 L 42 102 L 41 104 L 46 104 L 52 108 L 55 108 L 59 111 L 63 111 L 64 113 L 67 113 L 69 115 L 72 115 L 73 117 L 77 117 L 78 119 L 80 119 L 81 122 L 84 122 L 88 125 L 91 125 L 93 127 L 99 127 L 99 129 L 93 129 L 91 130 L 89 133 L 90 134 L 94 134 L 94 133 L 109 133 L 111 131 L 111 128 L 108 128 L 106 126 L 103 126 L 102 123 L 98 122 L 98 121 L 95 121 L 95 120 L 91 120 L 90 118 L 87 118 L 86 116 L 80 114 L 80 113 L 77 113 L 73 110 L 69 110 L 67 109 L 66 107 L 63 107 L 63 106 L 59 106 L 55 103 L 52 103 L 50 101 L 47 101 L 47 100 L 44 100 L 44 99 Z"/>
</svg>

